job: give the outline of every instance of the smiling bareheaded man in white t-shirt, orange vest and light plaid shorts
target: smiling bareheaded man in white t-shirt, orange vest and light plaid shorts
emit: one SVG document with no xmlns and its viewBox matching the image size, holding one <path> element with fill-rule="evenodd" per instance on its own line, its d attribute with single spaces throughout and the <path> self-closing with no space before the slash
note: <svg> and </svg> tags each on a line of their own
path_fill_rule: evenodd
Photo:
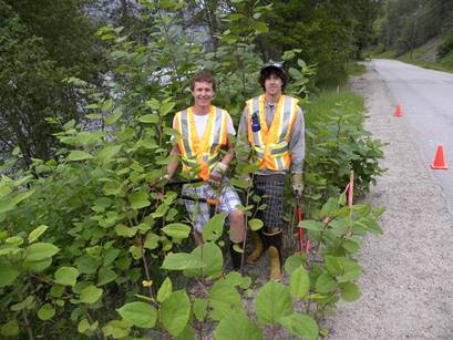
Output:
<svg viewBox="0 0 453 340">
<path fill-rule="evenodd" d="M 234 245 L 240 247 L 244 240 L 244 213 L 239 210 L 237 193 L 225 176 L 234 157 L 228 134 L 235 135 L 236 131 L 228 112 L 212 105 L 215 90 L 215 80 L 209 72 L 198 72 L 192 79 L 194 106 L 176 113 L 173 120 L 173 128 L 179 133 L 179 141 L 174 145 L 172 155 L 178 157 L 168 164 L 167 178 L 173 176 L 181 158 L 183 172 L 192 172 L 204 182 L 200 185 L 185 185 L 183 195 L 218 199 L 217 212 L 226 213 L 229 219 L 233 267 L 239 269 L 241 255 L 234 250 Z M 185 205 L 193 216 L 195 241 L 200 245 L 203 228 L 210 217 L 209 206 L 194 200 L 185 200 Z"/>
</svg>

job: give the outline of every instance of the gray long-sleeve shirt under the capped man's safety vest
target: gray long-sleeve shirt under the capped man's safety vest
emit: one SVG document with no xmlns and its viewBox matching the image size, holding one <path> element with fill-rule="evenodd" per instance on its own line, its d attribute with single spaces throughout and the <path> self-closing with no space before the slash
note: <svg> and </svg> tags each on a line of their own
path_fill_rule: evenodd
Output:
<svg viewBox="0 0 453 340">
<path fill-rule="evenodd" d="M 274 116 L 276 113 L 277 103 L 268 103 L 265 101 L 265 114 L 266 114 L 266 124 L 269 127 L 272 124 Z M 243 116 L 240 117 L 239 122 L 239 131 L 238 131 L 238 145 L 244 145 L 248 142 L 247 137 L 248 133 L 248 109 L 247 106 L 244 109 Z M 305 158 L 305 122 L 303 122 L 303 113 L 302 109 L 297 106 L 296 111 L 296 121 L 292 126 L 292 132 L 289 138 L 289 154 L 291 155 L 291 173 L 301 173 L 303 167 L 303 158 Z M 259 169 L 257 174 L 259 175 L 270 175 L 285 172 L 276 172 L 270 169 Z"/>
</svg>

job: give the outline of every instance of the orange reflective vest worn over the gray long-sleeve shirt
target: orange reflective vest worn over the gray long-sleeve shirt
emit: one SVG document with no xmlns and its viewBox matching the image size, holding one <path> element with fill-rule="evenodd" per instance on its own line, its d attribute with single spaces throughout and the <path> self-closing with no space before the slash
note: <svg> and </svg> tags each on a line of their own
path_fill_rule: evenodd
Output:
<svg viewBox="0 0 453 340">
<path fill-rule="evenodd" d="M 280 95 L 272 124 L 266 123 L 265 95 L 247 101 L 248 142 L 254 147 L 255 156 L 261 169 L 286 171 L 291 165 L 289 138 L 296 122 L 298 100 Z M 259 131 L 251 128 L 253 115 L 259 117 Z"/>
</svg>

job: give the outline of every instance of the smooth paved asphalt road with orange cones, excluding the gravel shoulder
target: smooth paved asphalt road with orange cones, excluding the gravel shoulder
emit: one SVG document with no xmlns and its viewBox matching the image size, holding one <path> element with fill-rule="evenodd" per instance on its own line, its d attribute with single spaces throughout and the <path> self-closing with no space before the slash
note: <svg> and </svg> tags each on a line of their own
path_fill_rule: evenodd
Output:
<svg viewBox="0 0 453 340">
<path fill-rule="evenodd" d="M 395 60 L 374 60 L 372 65 L 394 103 L 401 105 L 426 166 L 433 162 L 436 146 L 443 145 L 450 169 L 432 171 L 432 174 L 453 212 L 453 74 Z"/>
</svg>

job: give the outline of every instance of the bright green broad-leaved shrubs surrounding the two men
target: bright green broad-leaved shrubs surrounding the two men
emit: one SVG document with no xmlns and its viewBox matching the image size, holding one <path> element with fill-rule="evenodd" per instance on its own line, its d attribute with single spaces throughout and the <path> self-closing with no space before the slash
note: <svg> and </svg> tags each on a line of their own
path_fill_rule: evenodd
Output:
<svg viewBox="0 0 453 340">
<path fill-rule="evenodd" d="M 348 125 L 352 122 L 348 114 L 356 111 L 337 111 L 332 117 L 320 111 L 319 121 L 317 114 L 307 114 L 312 115 L 307 120 L 311 138 L 307 154 L 313 154 L 307 162 L 307 190 L 321 197 L 310 198 L 318 213 L 299 226 L 309 230 L 315 251 L 287 259 L 289 286 L 254 287 L 258 291 L 251 301 L 251 279 L 224 274 L 225 215 L 213 216 L 203 233 L 205 244 L 191 250 L 191 220 L 178 205 L 178 193 L 163 193 L 158 179 L 177 138 L 169 128 L 171 113 L 189 104 L 188 75 L 202 64 L 218 75 L 216 104 L 236 117 L 240 114 L 244 100 L 259 91 L 260 62 L 250 42 L 265 31 L 258 22 L 267 9 L 249 8 L 253 24 L 244 23 L 248 17 L 239 17 L 244 21 L 231 24 L 219 37 L 217 50 L 207 52 L 175 29 L 183 20 L 182 7 L 176 1 L 143 2 L 143 16 L 153 22 L 146 43 L 128 39 L 122 28 L 101 29 L 99 38 L 112 65 L 109 91 L 70 78 L 68 84 L 86 95 L 81 105 L 89 114 L 79 122 L 54 123 L 61 144 L 55 159 L 35 158 L 30 171 L 1 177 L 2 337 L 193 339 L 195 331 L 203 336 L 215 329 L 216 339 L 261 339 L 268 329 L 274 334 L 284 329 L 316 339 L 323 310 L 339 299 L 359 297 L 358 236 L 380 233 L 375 223 L 380 212 L 368 205 L 346 206 L 344 194 L 325 203 L 338 196 L 344 176 L 336 174 L 343 175 L 347 166 L 354 166 L 362 189 L 379 174 L 373 163 L 378 157 L 370 152 L 379 153 L 379 146 L 360 144 L 359 114 Z M 235 13 L 220 18 L 238 20 Z M 307 97 L 313 69 L 297 53 L 285 53 L 295 61 L 289 91 Z M 337 138 L 320 128 L 321 119 Z M 331 126 L 340 126 L 341 133 Z M 357 143 L 360 156 L 348 148 Z M 341 166 L 334 162 L 338 155 Z M 372 158 L 370 166 L 354 163 L 367 157 Z M 237 173 L 249 169 L 239 164 Z M 231 182 L 246 193 L 249 226 L 258 229 L 262 223 L 254 206 L 266 207 L 237 177 Z M 326 216 L 327 223 L 315 220 Z"/>
</svg>

